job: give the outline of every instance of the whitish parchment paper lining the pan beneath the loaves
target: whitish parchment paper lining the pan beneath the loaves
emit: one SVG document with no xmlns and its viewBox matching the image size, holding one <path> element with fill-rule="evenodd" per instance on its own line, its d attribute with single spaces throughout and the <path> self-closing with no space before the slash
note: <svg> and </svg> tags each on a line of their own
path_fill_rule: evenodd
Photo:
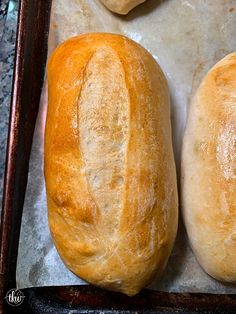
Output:
<svg viewBox="0 0 236 314">
<path fill-rule="evenodd" d="M 94 0 L 53 0 L 49 54 L 65 39 L 85 32 L 124 34 L 143 45 L 168 79 L 177 172 L 187 109 L 206 71 L 236 50 L 235 0 L 148 0 L 127 16 L 118 16 Z M 60 260 L 50 238 L 43 177 L 46 84 L 30 158 L 17 263 L 18 288 L 85 284 Z M 180 221 L 167 268 L 152 289 L 169 292 L 236 293 L 198 265 Z"/>
</svg>

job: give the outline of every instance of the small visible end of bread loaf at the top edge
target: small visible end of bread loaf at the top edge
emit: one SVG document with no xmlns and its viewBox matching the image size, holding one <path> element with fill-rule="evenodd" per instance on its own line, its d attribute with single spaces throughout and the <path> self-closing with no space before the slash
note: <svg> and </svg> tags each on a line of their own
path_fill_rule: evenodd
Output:
<svg viewBox="0 0 236 314">
<path fill-rule="evenodd" d="M 100 0 L 110 11 L 118 14 L 127 14 L 137 5 L 146 0 Z"/>
</svg>

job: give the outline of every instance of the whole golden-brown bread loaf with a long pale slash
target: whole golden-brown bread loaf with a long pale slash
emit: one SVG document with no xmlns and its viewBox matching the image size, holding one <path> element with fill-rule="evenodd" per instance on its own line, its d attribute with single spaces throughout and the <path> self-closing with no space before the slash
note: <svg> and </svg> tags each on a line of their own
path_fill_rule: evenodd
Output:
<svg viewBox="0 0 236 314">
<path fill-rule="evenodd" d="M 163 271 L 177 229 L 165 77 L 140 45 L 85 34 L 48 63 L 49 225 L 86 281 L 134 295 Z"/>
</svg>

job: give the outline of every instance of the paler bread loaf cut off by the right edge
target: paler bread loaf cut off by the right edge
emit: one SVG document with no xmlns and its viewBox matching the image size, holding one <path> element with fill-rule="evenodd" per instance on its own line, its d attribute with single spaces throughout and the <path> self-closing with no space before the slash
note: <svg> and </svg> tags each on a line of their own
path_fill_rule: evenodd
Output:
<svg viewBox="0 0 236 314">
<path fill-rule="evenodd" d="M 236 283 L 236 53 L 207 73 L 191 103 L 182 202 L 200 265 L 212 277 Z"/>
</svg>

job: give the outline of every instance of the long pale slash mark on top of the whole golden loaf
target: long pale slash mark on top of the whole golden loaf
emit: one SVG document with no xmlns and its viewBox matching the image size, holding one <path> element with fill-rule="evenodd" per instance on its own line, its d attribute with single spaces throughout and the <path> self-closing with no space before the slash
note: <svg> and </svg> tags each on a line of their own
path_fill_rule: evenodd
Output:
<svg viewBox="0 0 236 314">
<path fill-rule="evenodd" d="M 101 46 L 84 70 L 78 131 L 83 172 L 109 233 L 119 224 L 123 208 L 129 105 L 120 58 L 112 48 Z"/>
</svg>

